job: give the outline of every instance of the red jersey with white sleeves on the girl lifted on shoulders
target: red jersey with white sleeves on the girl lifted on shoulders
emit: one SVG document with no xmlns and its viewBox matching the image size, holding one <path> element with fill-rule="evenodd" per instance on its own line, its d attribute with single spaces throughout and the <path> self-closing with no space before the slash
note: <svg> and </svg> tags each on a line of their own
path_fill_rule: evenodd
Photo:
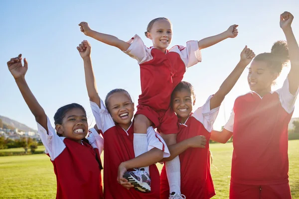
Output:
<svg viewBox="0 0 299 199">
<path fill-rule="evenodd" d="M 183 79 L 187 67 L 201 61 L 197 41 L 188 41 L 186 47 L 174 46 L 166 53 L 156 48 L 147 48 L 135 35 L 128 41 L 125 52 L 140 65 L 141 91 L 138 104 L 153 110 L 167 110 L 173 89 Z"/>
</svg>

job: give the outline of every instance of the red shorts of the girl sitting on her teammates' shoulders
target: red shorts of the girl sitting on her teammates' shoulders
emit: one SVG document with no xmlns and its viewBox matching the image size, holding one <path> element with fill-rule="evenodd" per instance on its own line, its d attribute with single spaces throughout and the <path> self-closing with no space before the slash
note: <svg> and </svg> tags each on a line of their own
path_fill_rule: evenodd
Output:
<svg viewBox="0 0 299 199">
<path fill-rule="evenodd" d="M 154 111 L 149 106 L 138 105 L 137 114 L 145 115 L 153 123 L 154 128 L 163 134 L 179 132 L 179 123 L 176 114 L 171 108 L 167 110 Z"/>
</svg>

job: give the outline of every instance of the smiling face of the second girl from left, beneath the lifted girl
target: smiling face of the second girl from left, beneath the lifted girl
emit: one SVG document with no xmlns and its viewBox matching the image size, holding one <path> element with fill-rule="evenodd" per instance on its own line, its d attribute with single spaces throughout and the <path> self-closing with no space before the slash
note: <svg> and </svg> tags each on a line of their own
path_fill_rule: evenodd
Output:
<svg viewBox="0 0 299 199">
<path fill-rule="evenodd" d="M 108 110 L 113 120 L 122 128 L 128 129 L 134 115 L 134 103 L 124 92 L 117 92 L 108 97 Z"/>
</svg>

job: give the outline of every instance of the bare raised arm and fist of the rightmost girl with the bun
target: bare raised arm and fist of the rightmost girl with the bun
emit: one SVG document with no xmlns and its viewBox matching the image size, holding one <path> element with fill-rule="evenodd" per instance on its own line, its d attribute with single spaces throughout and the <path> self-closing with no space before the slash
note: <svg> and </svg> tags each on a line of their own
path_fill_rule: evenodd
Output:
<svg viewBox="0 0 299 199">
<path fill-rule="evenodd" d="M 295 95 L 299 87 L 299 47 L 291 27 L 293 19 L 294 16 L 287 11 L 280 16 L 280 26 L 286 35 L 291 60 L 291 70 L 288 75 L 289 91 Z"/>
</svg>

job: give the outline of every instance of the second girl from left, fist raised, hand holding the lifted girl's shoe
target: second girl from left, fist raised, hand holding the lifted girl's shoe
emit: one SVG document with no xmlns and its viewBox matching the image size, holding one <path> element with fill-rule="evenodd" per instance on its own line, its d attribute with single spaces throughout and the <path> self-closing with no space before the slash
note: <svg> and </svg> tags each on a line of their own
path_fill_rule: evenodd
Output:
<svg viewBox="0 0 299 199">
<path fill-rule="evenodd" d="M 134 103 L 129 93 L 123 89 L 112 90 L 107 94 L 104 103 L 98 95 L 95 84 L 90 58 L 90 44 L 84 41 L 77 49 L 84 62 L 85 81 L 92 112 L 95 116 L 97 127 L 101 130 L 105 140 L 104 198 L 158 199 L 160 176 L 155 163 L 163 157 L 169 157 L 166 145 L 150 126 L 147 134 L 145 134 L 149 143 L 148 152 L 135 158 L 133 148 L 135 134 L 134 123 L 132 122 Z M 149 176 L 144 170 L 126 172 L 129 169 L 145 166 L 149 166 L 151 174 L 151 191 L 149 191 Z M 129 182 L 123 178 L 125 172 L 127 175 L 130 175 L 128 177 Z M 135 184 L 133 178 L 140 184 Z M 133 187 L 135 189 L 130 189 Z M 140 192 L 144 191 L 141 188 L 146 188 L 145 191 L 149 193 Z"/>
</svg>

